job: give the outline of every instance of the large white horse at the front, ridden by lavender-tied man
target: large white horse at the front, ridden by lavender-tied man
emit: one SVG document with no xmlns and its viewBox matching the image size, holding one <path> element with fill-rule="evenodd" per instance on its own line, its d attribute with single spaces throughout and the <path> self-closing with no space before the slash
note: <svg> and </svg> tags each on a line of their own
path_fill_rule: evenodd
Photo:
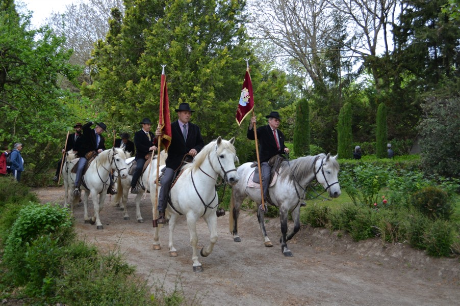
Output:
<svg viewBox="0 0 460 306">
<path fill-rule="evenodd" d="M 236 150 L 233 146 L 235 137 L 231 140 L 217 140 L 206 145 L 194 158 L 192 163 L 186 164 L 178 175 L 177 180 L 170 188 L 170 203 L 166 208 L 166 218 L 169 218 L 169 256 L 176 257 L 177 251 L 173 245 L 173 231 L 178 215 L 187 217 L 187 225 L 192 244 L 192 261 L 195 272 L 203 271 L 198 261 L 196 246 L 198 236 L 196 234 L 196 222 L 203 217 L 208 224 L 210 243 L 201 249 L 201 256 L 207 257 L 217 242 L 217 205 L 219 203 L 216 192 L 218 176 L 225 182 L 234 185 L 238 182 L 235 169 L 237 160 Z M 163 168 L 163 166 L 161 167 Z M 156 171 L 155 171 L 156 172 Z M 155 190 L 155 180 L 150 181 L 150 190 Z M 150 193 L 150 199 L 155 208 L 155 192 Z M 158 215 L 158 214 L 157 214 Z M 160 249 L 159 227 L 155 228 L 154 249 Z"/>
</svg>

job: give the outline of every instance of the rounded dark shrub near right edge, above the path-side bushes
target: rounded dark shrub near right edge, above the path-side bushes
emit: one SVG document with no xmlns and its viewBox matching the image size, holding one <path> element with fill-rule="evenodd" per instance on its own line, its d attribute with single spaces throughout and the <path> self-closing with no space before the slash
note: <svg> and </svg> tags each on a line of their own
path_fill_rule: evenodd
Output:
<svg viewBox="0 0 460 306">
<path fill-rule="evenodd" d="M 428 186 L 415 192 L 411 199 L 412 205 L 431 219 L 448 220 L 452 214 L 452 206 L 446 191 Z"/>
</svg>

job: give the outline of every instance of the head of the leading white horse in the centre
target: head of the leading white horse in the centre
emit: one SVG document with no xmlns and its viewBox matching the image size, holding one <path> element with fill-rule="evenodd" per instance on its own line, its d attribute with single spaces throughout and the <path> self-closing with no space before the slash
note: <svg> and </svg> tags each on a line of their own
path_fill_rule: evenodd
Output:
<svg viewBox="0 0 460 306">
<path fill-rule="evenodd" d="M 210 152 L 209 158 L 211 166 L 216 173 L 224 178 L 225 182 L 230 185 L 235 185 L 239 181 L 239 177 L 235 168 L 235 160 L 238 160 L 236 149 L 233 146 L 235 137 L 231 140 L 223 140 L 218 137 L 216 140 L 215 153 Z M 219 165 L 219 166 L 217 166 Z"/>
</svg>

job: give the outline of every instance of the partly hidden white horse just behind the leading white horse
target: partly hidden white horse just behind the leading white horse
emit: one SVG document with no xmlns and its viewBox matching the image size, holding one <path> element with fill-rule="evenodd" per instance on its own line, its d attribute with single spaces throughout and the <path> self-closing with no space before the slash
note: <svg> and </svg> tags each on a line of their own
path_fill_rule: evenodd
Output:
<svg viewBox="0 0 460 306">
<path fill-rule="evenodd" d="M 134 200 L 135 203 L 136 203 L 136 219 L 137 219 L 137 221 L 139 223 L 144 222 L 144 219 L 142 218 L 142 215 L 141 215 L 141 209 L 140 209 L 141 198 L 142 198 L 144 192 L 146 192 L 146 191 L 150 192 L 150 189 L 149 189 L 150 184 L 148 183 L 149 180 L 147 179 L 147 176 L 148 176 L 148 173 L 150 172 L 150 180 L 151 179 L 154 179 L 154 180 L 156 179 L 156 177 L 152 178 L 151 175 L 154 172 L 154 170 L 155 170 L 155 174 L 157 173 L 156 172 L 157 158 L 158 158 L 158 155 L 155 155 L 154 159 L 151 162 L 151 164 L 147 165 L 147 167 L 145 168 L 144 173 L 139 178 L 139 185 L 141 186 L 141 188 L 139 188 L 139 193 L 136 194 L 136 199 Z M 127 164 L 128 168 L 130 168 L 130 166 L 131 166 L 131 164 L 133 162 L 133 160 L 130 160 L 130 159 L 132 159 L 132 158 L 126 159 L 126 164 Z M 163 150 L 163 151 L 160 152 L 160 165 L 164 165 L 165 160 L 166 160 L 166 154 L 165 154 L 165 151 Z M 150 162 L 150 160 L 147 160 L 146 162 Z M 152 170 L 150 170 L 150 167 L 151 167 Z M 127 199 L 128 199 L 128 194 L 130 192 L 131 180 L 132 179 L 133 179 L 133 175 L 129 174 L 129 173 L 128 173 L 128 176 L 126 178 L 124 178 L 124 179 L 119 177 L 119 176 L 116 178 L 117 192 L 118 193 L 115 196 L 114 202 L 115 202 L 115 205 L 120 208 L 120 210 L 123 210 L 123 219 L 124 220 L 129 220 L 130 219 L 130 215 L 128 214 L 128 211 L 126 209 L 126 202 L 127 202 Z"/>
</svg>

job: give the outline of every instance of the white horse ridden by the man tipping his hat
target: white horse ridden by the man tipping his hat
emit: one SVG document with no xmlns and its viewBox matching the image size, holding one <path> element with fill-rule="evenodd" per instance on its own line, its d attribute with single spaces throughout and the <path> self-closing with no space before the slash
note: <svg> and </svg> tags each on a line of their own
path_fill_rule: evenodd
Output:
<svg viewBox="0 0 460 306">
<path fill-rule="evenodd" d="M 124 151 L 120 148 L 112 148 L 99 153 L 86 170 L 86 173 L 82 177 L 82 189 L 85 190 L 85 196 L 83 197 L 83 204 L 85 207 L 85 223 L 96 224 L 97 229 L 104 229 L 99 219 L 99 213 L 104 208 L 104 201 L 107 196 L 107 188 L 110 184 L 109 174 L 111 171 L 118 172 L 118 175 L 125 178 L 128 175 L 126 164 L 126 156 Z M 75 182 L 75 174 L 71 173 L 71 186 Z M 88 196 L 91 194 L 91 199 L 94 204 L 94 215 L 91 219 L 88 217 Z M 99 199 L 97 195 L 99 194 Z M 78 203 L 79 198 L 73 197 L 72 194 L 72 206 Z"/>
</svg>

